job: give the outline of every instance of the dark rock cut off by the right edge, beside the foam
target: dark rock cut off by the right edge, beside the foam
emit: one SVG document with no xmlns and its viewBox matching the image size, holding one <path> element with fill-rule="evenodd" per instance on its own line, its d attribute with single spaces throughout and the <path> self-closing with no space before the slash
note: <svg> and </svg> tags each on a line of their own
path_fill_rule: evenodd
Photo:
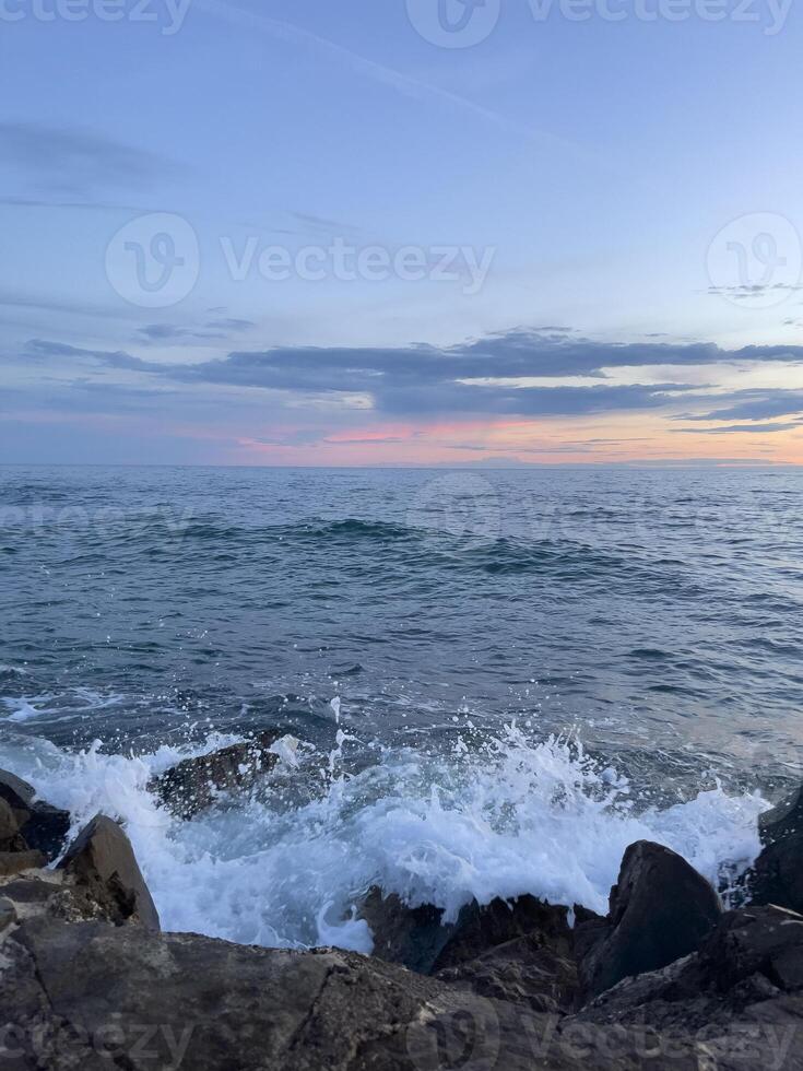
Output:
<svg viewBox="0 0 803 1071">
<path fill-rule="evenodd" d="M 746 879 L 749 901 L 803 913 L 803 787 L 758 823 L 764 850 Z"/>
</svg>

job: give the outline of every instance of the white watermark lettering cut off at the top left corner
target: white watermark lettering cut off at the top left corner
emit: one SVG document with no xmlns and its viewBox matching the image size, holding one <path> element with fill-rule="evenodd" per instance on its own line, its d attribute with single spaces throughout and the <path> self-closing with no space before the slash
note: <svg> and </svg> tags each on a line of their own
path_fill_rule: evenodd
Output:
<svg viewBox="0 0 803 1071">
<path fill-rule="evenodd" d="M 192 0 L 0 0 L 0 22 L 130 22 L 156 25 L 163 37 L 184 26 Z"/>
</svg>

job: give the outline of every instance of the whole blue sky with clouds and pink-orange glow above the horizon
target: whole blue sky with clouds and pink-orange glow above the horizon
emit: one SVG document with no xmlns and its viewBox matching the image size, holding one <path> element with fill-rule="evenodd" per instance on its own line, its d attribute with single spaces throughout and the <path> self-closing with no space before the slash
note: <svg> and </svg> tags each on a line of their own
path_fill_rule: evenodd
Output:
<svg viewBox="0 0 803 1071">
<path fill-rule="evenodd" d="M 0 0 L 0 462 L 803 463 L 803 4 Z"/>
</svg>

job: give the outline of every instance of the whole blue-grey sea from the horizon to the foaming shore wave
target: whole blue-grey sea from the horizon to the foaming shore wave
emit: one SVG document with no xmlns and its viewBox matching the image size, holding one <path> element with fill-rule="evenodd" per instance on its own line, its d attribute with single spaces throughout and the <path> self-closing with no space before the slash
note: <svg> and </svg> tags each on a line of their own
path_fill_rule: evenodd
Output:
<svg viewBox="0 0 803 1071">
<path fill-rule="evenodd" d="M 166 930 L 369 952 L 374 885 L 728 899 L 803 777 L 803 470 L 0 468 L 0 766 L 123 823 Z M 173 817 L 149 781 L 292 735 Z"/>
</svg>

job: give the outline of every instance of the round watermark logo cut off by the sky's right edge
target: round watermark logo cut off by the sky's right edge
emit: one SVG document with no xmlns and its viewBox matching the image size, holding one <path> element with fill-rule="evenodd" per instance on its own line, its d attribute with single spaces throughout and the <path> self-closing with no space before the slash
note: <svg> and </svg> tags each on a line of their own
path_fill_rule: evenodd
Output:
<svg viewBox="0 0 803 1071">
<path fill-rule="evenodd" d="M 706 268 L 710 294 L 741 308 L 772 308 L 802 289 L 803 242 L 786 216 L 753 212 L 716 235 Z"/>
</svg>

